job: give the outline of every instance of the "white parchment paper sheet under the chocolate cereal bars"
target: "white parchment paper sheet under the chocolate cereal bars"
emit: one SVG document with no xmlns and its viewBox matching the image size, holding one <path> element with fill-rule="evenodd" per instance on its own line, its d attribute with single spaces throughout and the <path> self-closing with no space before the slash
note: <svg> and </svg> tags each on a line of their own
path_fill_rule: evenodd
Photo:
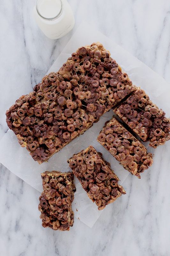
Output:
<svg viewBox="0 0 170 256">
<path fill-rule="evenodd" d="M 62 64 L 70 57 L 71 53 L 75 52 L 78 47 L 97 41 L 101 42 L 104 47 L 110 51 L 111 57 L 128 73 L 133 84 L 143 88 L 149 94 L 150 99 L 166 112 L 166 116 L 169 116 L 170 109 L 168 100 L 170 99 L 170 86 L 166 81 L 121 46 L 115 44 L 108 37 L 97 31 L 93 26 L 87 25 L 85 22 L 79 26 L 75 34 L 71 37 L 48 73 L 58 71 Z M 17 99 L 14 99 L 14 102 L 15 100 Z M 105 122 L 111 119 L 112 116 L 113 112 L 110 110 L 103 115 L 100 121 L 94 124 L 92 128 L 52 156 L 47 163 L 41 165 L 33 160 L 26 148 L 20 147 L 15 134 L 11 130 L 8 130 L 0 141 L 0 162 L 33 188 L 42 192 L 41 172 L 47 170 L 57 170 L 61 172 L 70 171 L 67 159 L 74 153 L 78 153 L 82 149 L 92 145 L 103 153 L 105 160 L 111 163 L 112 169 L 118 175 L 121 180 L 120 184 L 122 184 L 130 173 L 124 170 L 119 162 L 96 140 Z M 97 206 L 88 198 L 77 179 L 75 179 L 75 185 L 77 191 L 72 204 L 75 217 L 80 219 L 87 226 L 92 227 L 102 211 L 97 210 Z"/>
</svg>

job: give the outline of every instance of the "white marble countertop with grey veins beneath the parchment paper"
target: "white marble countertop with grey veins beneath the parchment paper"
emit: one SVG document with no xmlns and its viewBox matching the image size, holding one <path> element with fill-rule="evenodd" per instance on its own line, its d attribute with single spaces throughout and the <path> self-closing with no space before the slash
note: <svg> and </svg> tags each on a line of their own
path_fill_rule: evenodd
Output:
<svg viewBox="0 0 170 256">
<path fill-rule="evenodd" d="M 168 0 L 69 0 L 75 27 L 58 40 L 48 39 L 37 27 L 32 17 L 35 2 L 1 3 L 0 138 L 8 130 L 5 111 L 20 96 L 17 88 L 41 80 L 82 20 L 95 24 L 169 83 Z M 163 168 L 170 166 L 169 153 L 166 144 L 157 148 L 155 172 L 146 171 L 141 180 L 128 175 L 123 184 L 126 197 L 108 205 L 92 228 L 75 219 L 69 232 L 41 227 L 40 193 L 1 164 L 1 255 L 169 256 L 170 170 Z"/>
</svg>

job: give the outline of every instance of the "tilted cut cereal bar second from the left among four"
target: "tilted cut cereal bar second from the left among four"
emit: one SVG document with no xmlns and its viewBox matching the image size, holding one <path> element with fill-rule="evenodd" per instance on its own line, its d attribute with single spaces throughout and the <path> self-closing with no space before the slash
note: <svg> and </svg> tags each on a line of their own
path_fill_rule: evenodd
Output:
<svg viewBox="0 0 170 256">
<path fill-rule="evenodd" d="M 126 194 L 123 187 L 118 185 L 119 179 L 110 164 L 92 146 L 73 155 L 68 163 L 88 197 L 98 206 L 98 210 Z"/>
</svg>

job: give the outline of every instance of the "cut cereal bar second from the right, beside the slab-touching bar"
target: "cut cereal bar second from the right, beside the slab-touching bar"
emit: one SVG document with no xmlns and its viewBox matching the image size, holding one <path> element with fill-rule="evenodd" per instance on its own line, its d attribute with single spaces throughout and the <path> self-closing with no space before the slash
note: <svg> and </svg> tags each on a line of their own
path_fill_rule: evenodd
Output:
<svg viewBox="0 0 170 256">
<path fill-rule="evenodd" d="M 152 154 L 128 132 L 122 124 L 112 118 L 105 124 L 97 140 L 123 167 L 140 179 L 140 173 L 152 165 Z"/>
</svg>

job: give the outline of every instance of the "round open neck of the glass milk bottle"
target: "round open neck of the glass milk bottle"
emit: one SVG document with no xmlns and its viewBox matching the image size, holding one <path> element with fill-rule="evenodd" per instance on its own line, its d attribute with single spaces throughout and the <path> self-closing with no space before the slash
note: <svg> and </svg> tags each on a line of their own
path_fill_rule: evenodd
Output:
<svg viewBox="0 0 170 256">
<path fill-rule="evenodd" d="M 44 20 L 56 20 L 63 13 L 63 0 L 37 0 L 36 12 Z"/>
</svg>

